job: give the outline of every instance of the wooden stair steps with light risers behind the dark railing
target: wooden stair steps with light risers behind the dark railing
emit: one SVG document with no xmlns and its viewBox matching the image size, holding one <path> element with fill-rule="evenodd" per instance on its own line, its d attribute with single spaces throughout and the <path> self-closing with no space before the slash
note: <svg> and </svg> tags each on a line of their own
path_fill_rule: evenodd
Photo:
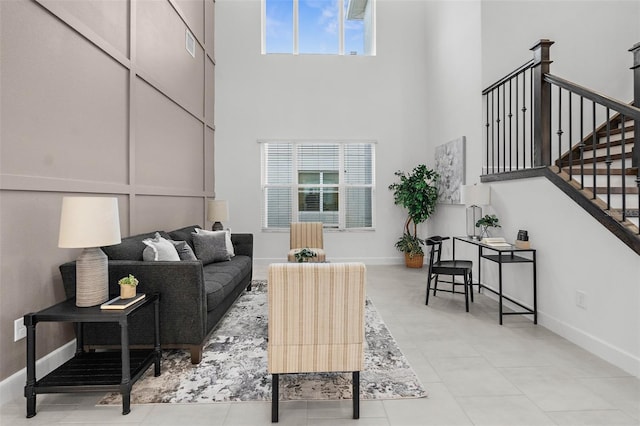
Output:
<svg viewBox="0 0 640 426">
<path fill-rule="evenodd" d="M 608 129 L 608 132 L 607 132 Z M 623 139 L 624 137 L 624 139 Z M 634 120 L 616 114 L 556 160 L 555 171 L 609 216 L 638 234 L 638 167 L 632 166 Z M 595 196 L 594 196 L 595 194 Z"/>
</svg>

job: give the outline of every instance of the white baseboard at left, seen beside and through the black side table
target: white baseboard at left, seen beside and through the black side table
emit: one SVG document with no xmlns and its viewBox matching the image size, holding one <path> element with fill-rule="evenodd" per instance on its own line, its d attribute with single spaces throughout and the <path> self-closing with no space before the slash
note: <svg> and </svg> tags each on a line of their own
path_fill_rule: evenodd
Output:
<svg viewBox="0 0 640 426">
<path fill-rule="evenodd" d="M 44 377 L 71 358 L 76 352 L 76 340 L 59 347 L 36 361 L 36 378 Z M 0 382 L 0 405 L 15 400 L 24 401 L 24 385 L 27 382 L 26 367 Z"/>
</svg>

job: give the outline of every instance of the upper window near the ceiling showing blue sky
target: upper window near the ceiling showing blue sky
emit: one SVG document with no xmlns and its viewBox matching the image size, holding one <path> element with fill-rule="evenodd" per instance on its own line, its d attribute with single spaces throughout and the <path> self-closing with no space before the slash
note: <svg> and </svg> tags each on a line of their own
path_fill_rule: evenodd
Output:
<svg viewBox="0 0 640 426">
<path fill-rule="evenodd" d="M 263 0 L 262 53 L 374 55 L 374 0 Z"/>
</svg>

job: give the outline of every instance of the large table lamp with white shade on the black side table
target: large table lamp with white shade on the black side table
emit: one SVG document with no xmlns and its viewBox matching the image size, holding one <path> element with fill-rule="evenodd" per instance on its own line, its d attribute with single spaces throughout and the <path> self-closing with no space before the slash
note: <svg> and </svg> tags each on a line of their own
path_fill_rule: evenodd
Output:
<svg viewBox="0 0 640 426">
<path fill-rule="evenodd" d="M 107 256 L 100 247 L 120 241 L 117 198 L 63 197 L 58 247 L 84 249 L 76 260 L 76 306 L 109 300 Z"/>
</svg>

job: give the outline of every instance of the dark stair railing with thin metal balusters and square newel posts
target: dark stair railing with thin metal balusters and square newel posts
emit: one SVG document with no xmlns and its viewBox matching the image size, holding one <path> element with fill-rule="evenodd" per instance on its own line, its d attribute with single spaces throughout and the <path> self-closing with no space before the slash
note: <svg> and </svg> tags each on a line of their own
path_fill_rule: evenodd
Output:
<svg viewBox="0 0 640 426">
<path fill-rule="evenodd" d="M 482 91 L 485 115 L 485 164 L 483 174 L 545 168 L 555 164 L 569 175 L 579 174 L 580 188 L 591 198 L 606 193 L 605 210 L 611 210 L 613 193 L 622 199 L 618 219 L 624 221 L 631 209 L 640 210 L 640 43 L 630 49 L 634 55 L 634 105 L 632 106 L 549 73 L 549 50 L 553 41 L 540 40 L 531 48 L 533 59 Z M 624 149 L 628 138 L 625 122 L 633 120 L 633 156 Z M 621 123 L 611 128 L 611 123 Z M 598 126 L 597 123 L 605 123 Z M 552 137 L 555 129 L 555 137 Z M 604 145 L 602 145 L 603 139 Z M 599 148 L 602 147 L 603 148 Z M 621 147 L 620 152 L 613 152 Z M 598 155 L 598 149 L 604 151 Z M 554 153 L 556 153 L 554 155 Z M 552 157 L 556 157 L 552 161 Z M 596 158 L 606 164 L 606 186 L 598 186 Z M 612 163 L 620 160 L 620 170 Z M 566 167 L 565 167 L 566 166 Z M 588 167 L 592 185 L 585 186 Z M 627 188 L 625 175 L 635 167 L 635 186 Z M 621 187 L 611 184 L 612 171 L 621 176 Z M 619 188 L 619 189 L 618 189 Z M 627 195 L 639 193 L 637 206 L 627 206 Z"/>
</svg>

